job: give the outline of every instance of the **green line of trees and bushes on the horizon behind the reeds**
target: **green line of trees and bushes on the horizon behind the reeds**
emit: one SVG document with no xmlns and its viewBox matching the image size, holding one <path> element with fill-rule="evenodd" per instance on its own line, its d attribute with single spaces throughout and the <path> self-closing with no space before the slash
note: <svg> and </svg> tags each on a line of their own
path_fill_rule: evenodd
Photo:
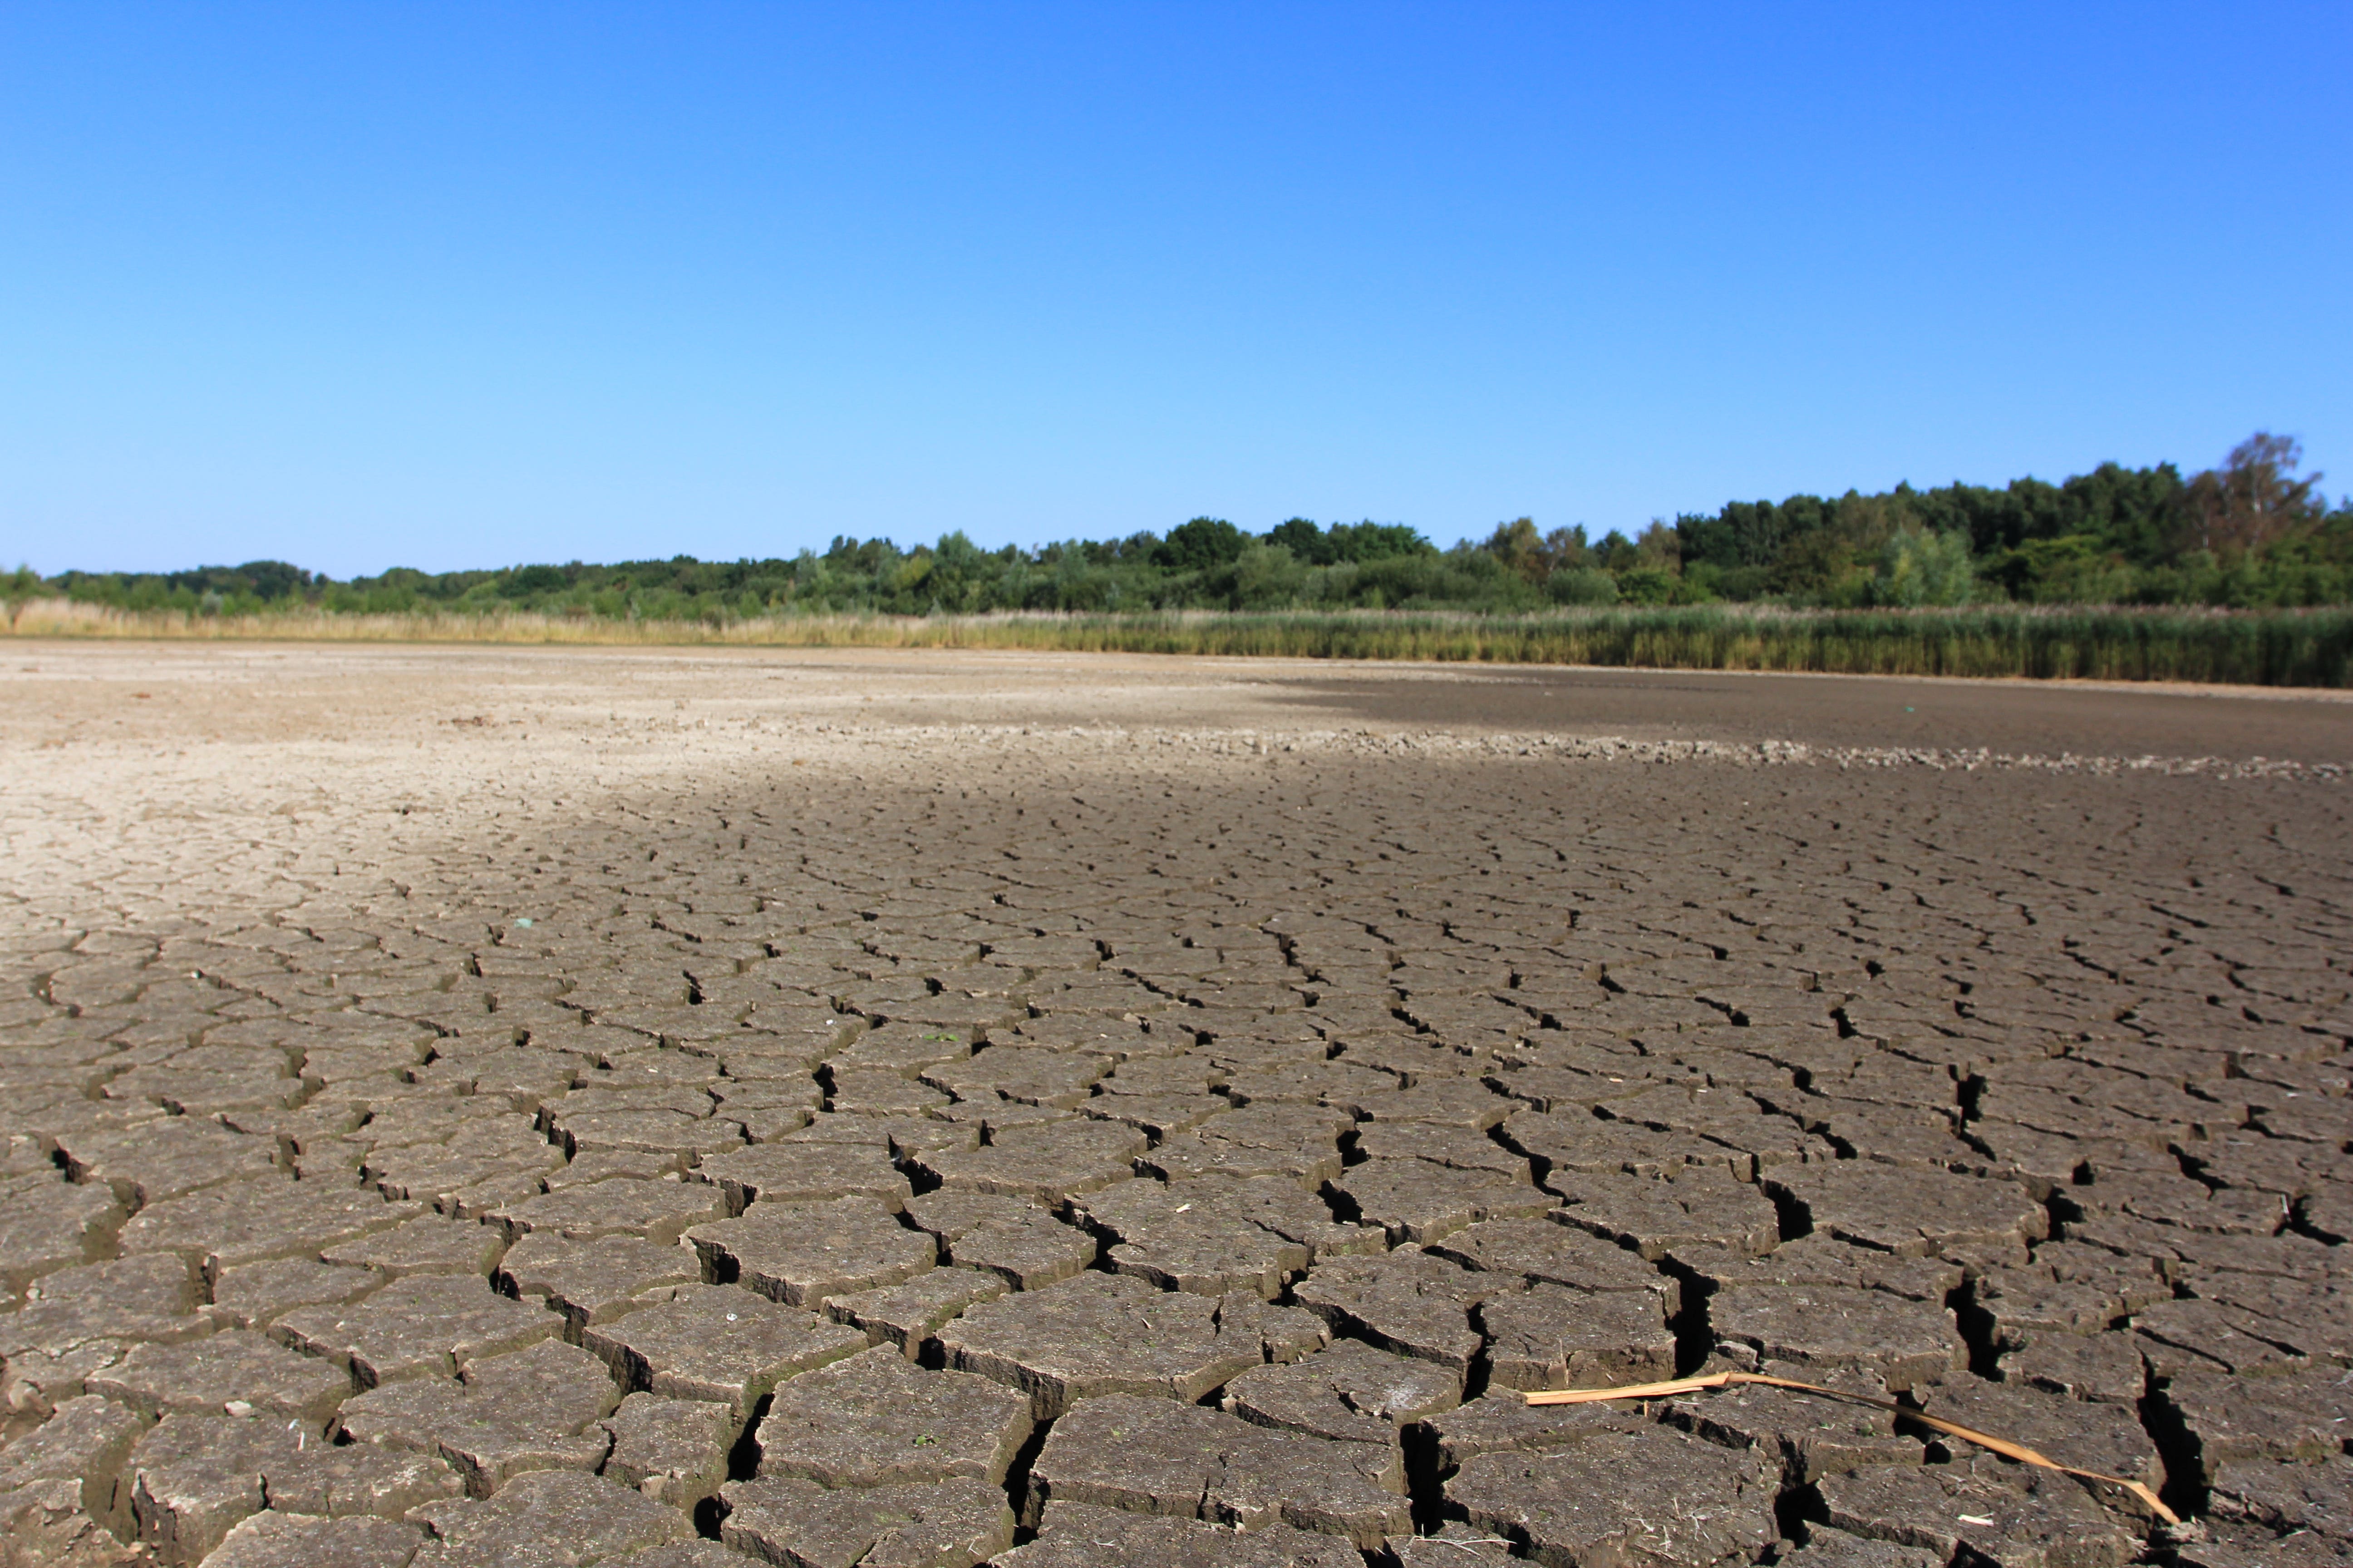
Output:
<svg viewBox="0 0 2353 1568">
<path fill-rule="evenodd" d="M 1791 607 L 2353 602 L 2353 501 L 2334 508 L 2289 437 L 2259 433 L 2221 465 L 2101 463 L 2059 484 L 1946 484 L 1732 501 L 1631 538 L 1532 517 L 1440 550 L 1405 524 L 1292 517 L 1252 534 L 1193 517 L 1162 534 L 984 550 L 962 531 L 901 550 L 838 536 L 826 550 L 736 562 L 689 555 L 334 581 L 285 562 L 191 571 L 0 576 L 118 609 L 249 614 L 496 611 L 729 618 L 767 614 L 986 614 L 1144 609 L 1478 609 L 1555 604 Z"/>
</svg>

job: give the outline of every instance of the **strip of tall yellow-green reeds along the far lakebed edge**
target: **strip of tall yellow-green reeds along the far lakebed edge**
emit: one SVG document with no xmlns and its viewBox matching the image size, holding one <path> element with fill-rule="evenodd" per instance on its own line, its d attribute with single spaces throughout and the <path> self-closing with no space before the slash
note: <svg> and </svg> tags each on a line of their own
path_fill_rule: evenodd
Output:
<svg viewBox="0 0 2353 1568">
<path fill-rule="evenodd" d="M 2353 684 L 2353 609 L 1875 609 L 1791 611 L 1729 604 L 1461 611 L 1165 611 L 993 616 L 755 616 L 616 621 L 598 616 L 318 609 L 254 616 L 118 611 L 66 599 L 14 607 L 16 637 L 167 637 L 299 642 L 506 642 L 616 646 L 892 646 L 1424 658 L 1668 670 L 1817 670 L 2028 679 Z"/>
</svg>

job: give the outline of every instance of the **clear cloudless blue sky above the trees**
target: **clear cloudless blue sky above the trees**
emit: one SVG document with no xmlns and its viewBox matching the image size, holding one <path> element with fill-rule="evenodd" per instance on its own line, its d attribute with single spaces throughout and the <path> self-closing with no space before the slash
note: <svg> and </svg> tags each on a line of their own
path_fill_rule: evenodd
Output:
<svg viewBox="0 0 2353 1568">
<path fill-rule="evenodd" d="M 0 7 L 0 564 L 2353 480 L 2353 7 Z"/>
</svg>

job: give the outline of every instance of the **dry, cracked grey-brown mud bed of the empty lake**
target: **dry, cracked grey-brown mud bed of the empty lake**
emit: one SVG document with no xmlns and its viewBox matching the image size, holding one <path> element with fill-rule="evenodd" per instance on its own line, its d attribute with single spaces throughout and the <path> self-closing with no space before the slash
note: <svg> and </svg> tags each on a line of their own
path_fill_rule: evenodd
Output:
<svg viewBox="0 0 2353 1568">
<path fill-rule="evenodd" d="M 28 1561 L 2353 1559 L 2353 785 L 1473 743 L 2329 762 L 2344 705 L 38 663 Z M 1520 1403 L 1722 1366 L 2202 1523 L 1777 1389 Z"/>
</svg>

